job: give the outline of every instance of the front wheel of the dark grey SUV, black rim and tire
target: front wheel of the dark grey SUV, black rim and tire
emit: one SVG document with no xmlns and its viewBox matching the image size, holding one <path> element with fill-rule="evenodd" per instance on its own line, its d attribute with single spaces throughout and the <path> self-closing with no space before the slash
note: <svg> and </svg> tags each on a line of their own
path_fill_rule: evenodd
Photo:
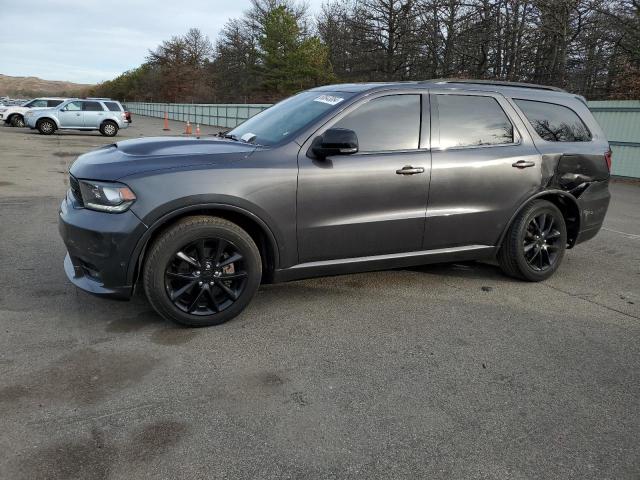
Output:
<svg viewBox="0 0 640 480">
<path fill-rule="evenodd" d="M 169 227 L 150 246 L 143 267 L 151 306 L 162 317 L 192 327 L 236 317 L 261 278 L 260 252 L 249 234 L 210 216 L 187 217 Z"/>
</svg>

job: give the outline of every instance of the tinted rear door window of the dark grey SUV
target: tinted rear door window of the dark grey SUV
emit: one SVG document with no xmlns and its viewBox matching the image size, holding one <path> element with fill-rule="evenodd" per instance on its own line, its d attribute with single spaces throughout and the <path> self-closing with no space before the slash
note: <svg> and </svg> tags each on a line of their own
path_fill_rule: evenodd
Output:
<svg viewBox="0 0 640 480">
<path fill-rule="evenodd" d="M 435 95 L 440 148 L 513 143 L 513 125 L 493 97 Z"/>
</svg>

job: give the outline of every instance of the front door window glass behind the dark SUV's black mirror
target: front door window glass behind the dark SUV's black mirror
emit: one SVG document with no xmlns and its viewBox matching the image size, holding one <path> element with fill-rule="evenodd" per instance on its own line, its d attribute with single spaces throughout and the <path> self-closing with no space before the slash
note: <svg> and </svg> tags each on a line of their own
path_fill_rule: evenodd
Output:
<svg viewBox="0 0 640 480">
<path fill-rule="evenodd" d="M 361 152 L 417 149 L 420 142 L 420 95 L 375 98 L 334 125 L 356 132 Z"/>
</svg>

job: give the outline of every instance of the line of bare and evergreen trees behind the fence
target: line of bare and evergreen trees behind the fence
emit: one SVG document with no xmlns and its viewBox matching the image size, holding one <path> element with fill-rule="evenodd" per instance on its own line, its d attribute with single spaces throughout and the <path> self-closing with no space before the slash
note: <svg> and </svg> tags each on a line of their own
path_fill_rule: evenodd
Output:
<svg viewBox="0 0 640 480">
<path fill-rule="evenodd" d="M 480 78 L 640 98 L 640 0 L 252 0 L 214 43 L 164 41 L 92 95 L 272 102 L 335 82 Z"/>
</svg>

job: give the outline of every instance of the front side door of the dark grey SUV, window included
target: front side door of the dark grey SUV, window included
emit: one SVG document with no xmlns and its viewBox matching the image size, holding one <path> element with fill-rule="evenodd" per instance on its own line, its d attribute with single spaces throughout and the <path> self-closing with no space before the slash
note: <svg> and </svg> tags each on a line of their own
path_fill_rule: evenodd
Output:
<svg viewBox="0 0 640 480">
<path fill-rule="evenodd" d="M 313 138 L 305 143 L 298 157 L 300 263 L 421 249 L 431 167 L 428 100 L 378 94 L 316 132 L 355 131 L 356 154 L 311 159 Z M 405 167 L 416 173 L 403 173 Z"/>
</svg>

